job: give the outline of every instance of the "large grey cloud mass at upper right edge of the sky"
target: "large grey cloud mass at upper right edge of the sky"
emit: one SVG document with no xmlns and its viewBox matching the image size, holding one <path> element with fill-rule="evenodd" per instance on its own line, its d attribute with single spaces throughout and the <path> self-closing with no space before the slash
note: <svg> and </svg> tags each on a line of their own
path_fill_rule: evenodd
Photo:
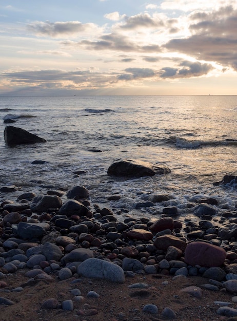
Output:
<svg viewBox="0 0 237 321">
<path fill-rule="evenodd" d="M 192 35 L 172 39 L 164 48 L 237 70 L 237 10 L 228 6 L 211 13 L 195 13 L 190 18 L 195 22 L 189 26 Z"/>
</svg>

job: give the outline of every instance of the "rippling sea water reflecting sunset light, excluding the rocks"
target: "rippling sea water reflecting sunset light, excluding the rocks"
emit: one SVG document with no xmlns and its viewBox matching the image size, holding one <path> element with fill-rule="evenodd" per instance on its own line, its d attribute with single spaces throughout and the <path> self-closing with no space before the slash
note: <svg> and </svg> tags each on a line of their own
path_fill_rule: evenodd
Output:
<svg viewBox="0 0 237 321">
<path fill-rule="evenodd" d="M 0 187 L 17 188 L 0 193 L 0 202 L 15 201 L 23 192 L 38 196 L 83 185 L 91 204 L 113 210 L 118 220 L 154 219 L 167 206 L 191 219 L 190 204 L 202 197 L 218 200 L 220 216 L 236 211 L 236 184 L 213 183 L 237 172 L 237 96 L 0 97 L 0 117 Z M 4 124 L 6 118 L 15 123 Z M 9 125 L 47 142 L 9 147 L 4 141 Z M 163 164 L 171 173 L 108 176 L 117 159 Z M 170 199 L 136 208 L 150 193 Z M 114 194 L 121 198 L 109 201 Z"/>
</svg>

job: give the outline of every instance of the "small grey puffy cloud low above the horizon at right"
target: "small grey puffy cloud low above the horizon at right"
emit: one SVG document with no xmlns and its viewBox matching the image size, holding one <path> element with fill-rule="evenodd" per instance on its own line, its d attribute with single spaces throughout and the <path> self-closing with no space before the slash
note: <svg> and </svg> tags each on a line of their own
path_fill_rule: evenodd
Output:
<svg viewBox="0 0 237 321">
<path fill-rule="evenodd" d="M 206 75 L 213 67 L 210 64 L 202 64 L 199 62 L 183 61 L 179 68 L 164 67 L 161 70 L 161 78 L 188 78 Z"/>
</svg>

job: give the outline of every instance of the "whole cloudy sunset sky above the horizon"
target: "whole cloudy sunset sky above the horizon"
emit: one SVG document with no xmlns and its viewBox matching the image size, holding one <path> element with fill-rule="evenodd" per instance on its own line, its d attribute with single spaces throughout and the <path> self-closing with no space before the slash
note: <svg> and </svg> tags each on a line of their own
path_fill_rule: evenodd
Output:
<svg viewBox="0 0 237 321">
<path fill-rule="evenodd" d="M 0 96 L 236 95 L 237 0 L 0 0 Z"/>
</svg>

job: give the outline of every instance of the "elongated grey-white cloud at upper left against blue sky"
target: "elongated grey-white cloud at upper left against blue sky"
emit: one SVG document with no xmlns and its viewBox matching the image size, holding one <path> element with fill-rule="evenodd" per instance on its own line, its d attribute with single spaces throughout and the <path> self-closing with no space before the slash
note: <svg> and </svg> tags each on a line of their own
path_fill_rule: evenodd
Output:
<svg viewBox="0 0 237 321">
<path fill-rule="evenodd" d="M 82 24 L 79 21 L 55 23 L 51 23 L 49 21 L 35 21 L 31 24 L 28 24 L 27 29 L 28 31 L 35 33 L 36 35 L 62 37 L 65 35 L 73 35 L 83 32 L 95 32 L 98 31 L 99 28 L 95 24 Z"/>
</svg>

